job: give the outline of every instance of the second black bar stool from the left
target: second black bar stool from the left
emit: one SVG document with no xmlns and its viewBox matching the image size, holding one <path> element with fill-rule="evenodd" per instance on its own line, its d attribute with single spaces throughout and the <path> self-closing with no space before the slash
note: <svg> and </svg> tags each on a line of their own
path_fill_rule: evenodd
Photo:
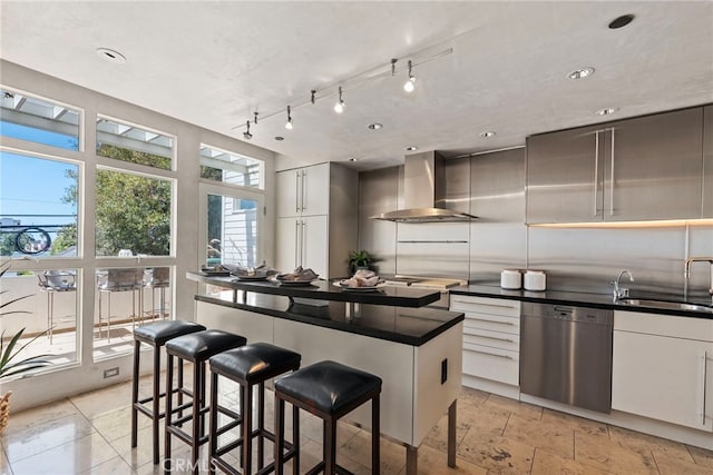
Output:
<svg viewBox="0 0 713 475">
<path fill-rule="evenodd" d="M 166 343 L 166 355 L 168 356 L 166 372 L 166 394 L 173 395 L 174 358 L 178 359 L 180 367 L 184 362 L 193 363 L 193 400 L 189 404 L 176 407 L 180 410 L 191 406 L 192 413 L 187 416 L 179 415 L 177 419 L 173 419 L 176 412 L 173 408 L 173 397 L 166 397 L 166 437 L 164 441 L 164 473 L 170 474 L 170 436 L 175 435 L 180 441 L 191 446 L 191 462 L 193 473 L 198 474 L 198 453 L 201 445 L 208 441 L 205 435 L 205 413 L 208 406 L 205 404 L 205 369 L 206 362 L 218 353 L 237 348 L 247 343 L 245 337 L 222 330 L 204 330 L 191 335 L 179 336 Z M 227 409 L 223 409 L 234 419 L 238 419 L 240 415 Z M 184 423 L 192 422 L 191 434 L 185 432 L 182 426 Z"/>
</svg>

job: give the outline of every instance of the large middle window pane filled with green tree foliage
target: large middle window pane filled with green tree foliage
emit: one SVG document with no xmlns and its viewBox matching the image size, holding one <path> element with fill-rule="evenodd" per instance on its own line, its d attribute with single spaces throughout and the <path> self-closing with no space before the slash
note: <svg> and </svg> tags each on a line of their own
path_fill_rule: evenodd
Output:
<svg viewBox="0 0 713 475">
<path fill-rule="evenodd" d="M 97 256 L 168 256 L 170 201 L 170 180 L 97 170 Z"/>
</svg>

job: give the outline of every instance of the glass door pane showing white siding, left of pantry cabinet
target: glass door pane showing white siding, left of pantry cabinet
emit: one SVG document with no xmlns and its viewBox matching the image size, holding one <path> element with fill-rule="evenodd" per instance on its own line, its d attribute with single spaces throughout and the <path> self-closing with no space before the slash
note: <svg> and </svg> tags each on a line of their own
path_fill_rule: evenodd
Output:
<svg viewBox="0 0 713 475">
<path fill-rule="evenodd" d="M 240 264 L 256 267 L 257 201 L 208 195 L 206 264 Z"/>
</svg>

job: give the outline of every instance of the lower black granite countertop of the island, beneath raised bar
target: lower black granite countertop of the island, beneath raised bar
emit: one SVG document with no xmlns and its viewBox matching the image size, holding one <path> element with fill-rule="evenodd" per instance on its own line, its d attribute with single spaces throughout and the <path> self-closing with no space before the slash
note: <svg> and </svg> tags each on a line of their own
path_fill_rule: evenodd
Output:
<svg viewBox="0 0 713 475">
<path fill-rule="evenodd" d="M 333 328 L 404 345 L 421 346 L 463 320 L 462 313 L 430 307 L 401 308 L 384 305 L 362 305 L 361 317 L 346 316 L 348 304 L 329 301 L 323 306 L 292 303 L 276 295 L 248 293 L 246 303 L 196 295 L 196 300 L 240 308 L 307 325 Z"/>
</svg>

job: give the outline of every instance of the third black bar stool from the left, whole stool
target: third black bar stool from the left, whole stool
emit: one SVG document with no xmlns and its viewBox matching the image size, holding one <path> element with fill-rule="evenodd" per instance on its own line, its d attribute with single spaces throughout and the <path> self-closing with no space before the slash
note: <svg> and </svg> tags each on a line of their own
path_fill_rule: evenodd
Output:
<svg viewBox="0 0 713 475">
<path fill-rule="evenodd" d="M 242 466 L 243 474 L 252 473 L 252 455 L 254 437 L 257 437 L 257 474 L 272 472 L 274 462 L 264 466 L 264 439 L 275 442 L 275 435 L 265 429 L 265 382 L 280 376 L 287 372 L 294 372 L 300 368 L 302 356 L 299 353 L 280 348 L 279 346 L 267 343 L 255 343 L 240 348 L 223 352 L 211 358 L 211 473 L 215 472 L 215 467 L 229 474 L 240 474 L 231 464 L 221 458 L 222 455 L 229 451 L 242 447 Z M 218 375 L 224 376 L 240 384 L 241 397 L 241 416 L 242 428 L 241 437 L 229 444 L 218 447 L 218 436 L 226 431 L 218 428 Z M 257 429 L 253 431 L 253 387 L 258 385 L 257 389 Z M 293 429 L 294 441 L 299 444 L 299 410 L 293 410 Z M 294 455 L 293 444 L 286 444 L 291 458 Z"/>
</svg>

